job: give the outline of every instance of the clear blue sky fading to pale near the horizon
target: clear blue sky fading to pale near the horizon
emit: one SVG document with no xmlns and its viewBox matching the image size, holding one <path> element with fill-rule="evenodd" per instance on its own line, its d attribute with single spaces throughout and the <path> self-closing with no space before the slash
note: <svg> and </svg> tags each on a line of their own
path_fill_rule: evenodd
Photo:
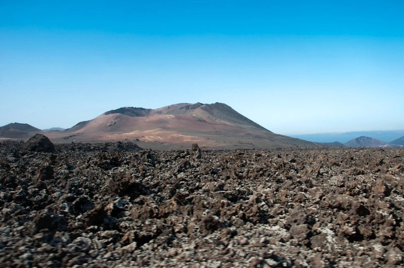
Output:
<svg viewBox="0 0 404 268">
<path fill-rule="evenodd" d="M 0 0 L 0 126 L 224 102 L 280 134 L 404 129 L 404 1 Z"/>
</svg>

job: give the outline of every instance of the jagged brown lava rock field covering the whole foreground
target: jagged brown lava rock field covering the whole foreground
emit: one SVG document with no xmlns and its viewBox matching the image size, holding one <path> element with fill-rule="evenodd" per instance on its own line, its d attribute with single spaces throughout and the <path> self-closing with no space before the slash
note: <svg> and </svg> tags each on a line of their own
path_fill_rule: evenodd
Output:
<svg viewBox="0 0 404 268">
<path fill-rule="evenodd" d="M 3 142 L 0 265 L 402 266 L 403 155 Z"/>
</svg>

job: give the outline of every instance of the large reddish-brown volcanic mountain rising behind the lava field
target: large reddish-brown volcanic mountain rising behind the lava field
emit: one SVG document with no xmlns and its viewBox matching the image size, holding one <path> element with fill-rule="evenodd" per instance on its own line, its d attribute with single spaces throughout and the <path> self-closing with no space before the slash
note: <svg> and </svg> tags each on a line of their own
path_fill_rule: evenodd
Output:
<svg viewBox="0 0 404 268">
<path fill-rule="evenodd" d="M 275 134 L 224 103 L 179 103 L 160 109 L 125 107 L 80 122 L 61 133 L 49 133 L 56 142 L 138 140 L 142 147 L 210 148 L 316 147 L 317 144 Z M 155 145 L 155 146 L 151 146 Z M 157 146 L 157 147 L 156 147 Z"/>
</svg>

